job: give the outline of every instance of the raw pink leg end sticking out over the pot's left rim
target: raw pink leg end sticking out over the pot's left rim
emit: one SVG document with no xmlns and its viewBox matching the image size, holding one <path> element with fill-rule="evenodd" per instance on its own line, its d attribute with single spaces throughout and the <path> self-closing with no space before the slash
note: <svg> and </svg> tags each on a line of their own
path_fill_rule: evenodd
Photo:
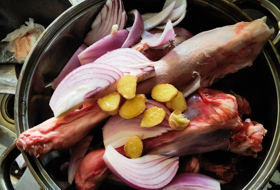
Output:
<svg viewBox="0 0 280 190">
<path fill-rule="evenodd" d="M 76 144 L 108 116 L 94 104 L 61 118 L 53 117 L 20 134 L 16 146 L 31 156 L 43 157 L 52 149 Z"/>
</svg>

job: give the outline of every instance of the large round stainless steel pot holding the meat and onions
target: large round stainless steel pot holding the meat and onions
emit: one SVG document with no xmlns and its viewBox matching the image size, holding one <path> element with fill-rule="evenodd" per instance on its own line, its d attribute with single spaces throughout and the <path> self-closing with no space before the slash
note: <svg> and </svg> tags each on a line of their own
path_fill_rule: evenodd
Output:
<svg viewBox="0 0 280 190">
<path fill-rule="evenodd" d="M 247 4 L 243 1 L 234 2 L 244 8 L 248 8 L 247 5 L 256 5 L 258 9 L 266 7 L 265 10 L 273 11 L 267 12 L 276 29 L 273 42 L 278 44 L 280 11 L 276 7 L 266 0 L 250 1 L 250 4 L 247 1 Z M 92 21 L 104 3 L 103 0 L 87 0 L 69 8 L 49 25 L 36 42 L 24 63 L 17 85 L 15 99 L 17 135 L 53 116 L 48 105 L 53 91 L 44 86 L 58 76 L 74 51 L 82 44 Z M 159 11 L 163 3 L 161 0 L 153 0 L 152 3 L 151 0 L 134 0 L 133 3 L 131 0 L 124 0 L 127 11 L 137 8 L 140 13 Z M 244 11 L 226 0 L 188 0 L 188 14 L 180 25 L 196 34 L 239 21 L 251 20 Z M 237 166 L 238 174 L 231 183 L 222 185 L 222 189 L 261 190 L 276 170 L 280 150 L 278 121 L 280 57 L 273 42 L 269 41 L 266 44 L 264 52 L 254 61 L 252 67 L 231 74 L 212 86 L 219 88 L 226 85 L 228 89 L 248 99 L 253 110 L 250 118 L 262 123 L 268 130 L 263 140 L 263 151 L 255 159 L 241 156 L 240 164 Z M 57 176 L 47 165 L 48 158 L 54 154 L 57 158 L 69 159 L 69 155 L 63 152 L 67 151 L 52 152 L 42 159 L 30 157 L 22 152 L 27 166 L 43 190 L 75 189 L 74 184 L 69 186 L 67 179 Z M 63 157 L 59 157 L 60 155 Z M 0 181 L 0 189 L 9 188 L 11 187 L 7 183 Z M 110 188 L 130 189 L 118 188 L 110 183 L 103 183 L 100 189 Z"/>
</svg>

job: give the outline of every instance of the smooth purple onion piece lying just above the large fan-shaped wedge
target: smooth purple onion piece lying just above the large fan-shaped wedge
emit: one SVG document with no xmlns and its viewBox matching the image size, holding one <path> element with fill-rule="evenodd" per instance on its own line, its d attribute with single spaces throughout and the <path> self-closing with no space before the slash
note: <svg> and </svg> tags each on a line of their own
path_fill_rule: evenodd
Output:
<svg viewBox="0 0 280 190">
<path fill-rule="evenodd" d="M 127 30 L 119 30 L 109 34 L 86 48 L 78 58 L 82 65 L 92 63 L 108 51 L 119 49 L 128 37 Z"/>
</svg>

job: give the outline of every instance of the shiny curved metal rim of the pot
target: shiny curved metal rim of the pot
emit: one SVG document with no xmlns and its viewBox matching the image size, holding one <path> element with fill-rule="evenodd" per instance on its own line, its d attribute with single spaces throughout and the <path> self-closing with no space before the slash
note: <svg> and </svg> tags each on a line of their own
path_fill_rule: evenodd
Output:
<svg viewBox="0 0 280 190">
<path fill-rule="evenodd" d="M 204 4 L 207 4 L 208 6 L 215 8 L 221 8 L 223 11 L 226 11 L 224 7 L 227 6 L 227 8 L 231 8 L 231 10 L 234 10 L 238 12 L 240 17 L 242 17 L 243 20 L 246 21 L 252 21 L 252 19 L 245 14 L 244 11 L 233 5 L 232 3 L 228 2 L 227 0 L 215 0 L 213 2 L 211 1 L 203 1 L 203 0 L 197 0 L 198 2 L 202 2 Z M 15 126 L 16 126 L 16 134 L 19 135 L 24 130 L 28 129 L 28 116 L 27 116 L 27 104 L 28 104 L 28 96 L 30 93 L 30 82 L 31 79 L 35 73 L 35 69 L 38 65 L 38 60 L 40 60 L 40 57 L 42 56 L 44 50 L 49 45 L 49 42 L 51 42 L 51 39 L 56 35 L 57 31 L 62 29 L 67 23 L 71 22 L 76 16 L 81 15 L 82 13 L 86 12 L 88 9 L 90 9 L 93 6 L 97 6 L 100 3 L 104 3 L 103 0 L 88 0 L 78 3 L 75 6 L 70 7 L 68 10 L 63 12 L 54 22 L 52 22 L 48 28 L 44 31 L 44 33 L 40 36 L 40 38 L 35 43 L 34 47 L 30 51 L 23 68 L 21 70 L 18 84 L 16 87 L 16 96 L 15 96 Z M 230 10 L 227 11 L 228 15 L 231 15 L 232 19 L 236 22 L 240 21 L 237 16 L 233 13 L 230 13 Z M 71 15 L 69 17 L 68 15 Z M 49 38 L 49 36 L 51 38 Z M 280 98 L 280 82 L 279 82 L 279 76 L 278 72 L 276 70 L 276 66 L 280 65 L 280 55 L 278 54 L 278 51 L 276 50 L 273 43 L 269 40 L 268 45 L 270 51 L 273 52 L 273 55 L 271 55 L 275 60 L 277 60 L 277 63 L 273 64 L 273 61 L 270 58 L 270 55 L 268 55 L 268 52 L 264 50 L 264 54 L 266 59 L 268 60 L 268 64 L 270 67 L 270 70 L 273 74 L 273 79 L 276 86 L 276 92 L 278 96 L 278 118 L 277 118 L 277 126 L 273 138 L 273 142 L 271 144 L 271 147 L 269 149 L 269 152 L 267 154 L 267 157 L 265 158 L 264 162 L 262 163 L 261 167 L 259 168 L 258 172 L 254 175 L 253 179 L 242 189 L 242 190 L 262 190 L 268 180 L 272 177 L 273 173 L 276 170 L 276 167 L 279 162 L 279 156 L 280 156 L 280 108 L 279 108 L 279 98 Z M 39 55 L 39 56 L 37 56 Z M 280 71 L 280 69 L 278 68 Z M 280 72 L 279 72 L 280 73 Z M 31 157 L 27 155 L 26 152 L 21 151 L 26 164 L 28 168 L 30 169 L 30 172 L 38 182 L 38 184 L 41 186 L 43 190 L 60 190 L 60 188 L 53 182 L 53 180 L 49 177 L 49 175 L 44 170 L 43 166 L 39 162 L 37 158 Z"/>
</svg>

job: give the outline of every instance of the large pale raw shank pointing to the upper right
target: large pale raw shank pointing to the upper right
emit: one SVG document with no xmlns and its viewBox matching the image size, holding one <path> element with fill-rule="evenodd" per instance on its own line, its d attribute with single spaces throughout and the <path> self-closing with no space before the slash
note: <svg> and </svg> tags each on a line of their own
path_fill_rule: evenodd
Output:
<svg viewBox="0 0 280 190">
<path fill-rule="evenodd" d="M 156 76 L 140 83 L 137 93 L 149 93 L 153 86 L 164 83 L 182 90 L 194 80 L 194 71 L 201 76 L 200 86 L 207 87 L 215 78 L 251 66 L 274 33 L 265 24 L 265 19 L 239 22 L 189 38 L 159 61 L 152 63 Z"/>
</svg>

